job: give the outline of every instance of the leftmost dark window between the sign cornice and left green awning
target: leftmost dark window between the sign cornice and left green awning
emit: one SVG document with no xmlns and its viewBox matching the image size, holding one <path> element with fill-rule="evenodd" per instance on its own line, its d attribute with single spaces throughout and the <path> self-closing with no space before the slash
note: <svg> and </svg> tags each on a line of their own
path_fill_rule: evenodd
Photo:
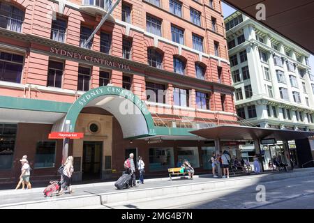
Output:
<svg viewBox="0 0 314 223">
<path fill-rule="evenodd" d="M 0 52 L 0 81 L 21 83 L 24 56 Z"/>
</svg>

